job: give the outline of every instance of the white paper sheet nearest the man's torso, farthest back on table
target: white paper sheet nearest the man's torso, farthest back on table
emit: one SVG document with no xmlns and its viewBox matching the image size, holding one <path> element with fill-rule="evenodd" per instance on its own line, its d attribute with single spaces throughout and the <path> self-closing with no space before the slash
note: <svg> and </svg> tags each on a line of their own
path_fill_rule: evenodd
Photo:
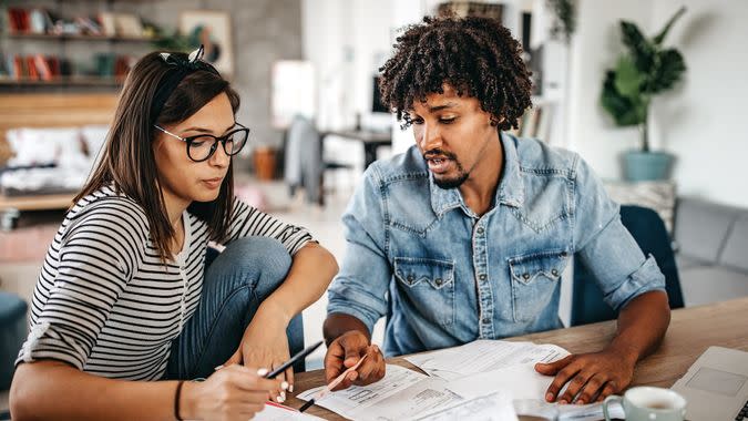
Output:
<svg viewBox="0 0 748 421">
<path fill-rule="evenodd" d="M 567 355 L 568 351 L 551 343 L 477 340 L 457 348 L 406 357 L 406 360 L 429 376 L 452 380 L 514 364 L 552 362 Z"/>
</svg>

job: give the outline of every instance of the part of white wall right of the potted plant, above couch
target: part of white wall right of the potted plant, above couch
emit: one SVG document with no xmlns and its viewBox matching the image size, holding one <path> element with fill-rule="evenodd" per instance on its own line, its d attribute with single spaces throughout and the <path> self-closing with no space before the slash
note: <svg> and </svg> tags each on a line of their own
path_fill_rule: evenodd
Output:
<svg viewBox="0 0 748 421">
<path fill-rule="evenodd" d="M 688 10 L 666 42 L 682 51 L 688 70 L 682 89 L 656 100 L 656 134 L 676 155 L 680 194 L 748 206 L 748 2 L 658 0 L 653 22 L 667 21 L 682 4 Z"/>
</svg>

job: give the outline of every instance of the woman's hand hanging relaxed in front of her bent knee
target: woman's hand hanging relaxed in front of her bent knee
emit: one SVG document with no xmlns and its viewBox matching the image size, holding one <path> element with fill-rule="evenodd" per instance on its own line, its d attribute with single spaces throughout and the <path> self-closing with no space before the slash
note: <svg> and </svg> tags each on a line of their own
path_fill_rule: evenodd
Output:
<svg viewBox="0 0 748 421">
<path fill-rule="evenodd" d="M 290 358 L 288 338 L 286 337 L 287 327 L 288 322 L 285 317 L 260 307 L 244 331 L 239 349 L 224 366 L 240 363 L 245 367 L 273 371 L 274 368 Z M 262 372 L 259 374 L 263 376 Z M 289 386 L 288 390 L 294 391 L 294 369 L 291 367 L 278 374 L 276 379 L 286 381 Z M 286 392 L 283 388 L 270 391 L 270 399 L 283 402 L 286 400 Z"/>
</svg>

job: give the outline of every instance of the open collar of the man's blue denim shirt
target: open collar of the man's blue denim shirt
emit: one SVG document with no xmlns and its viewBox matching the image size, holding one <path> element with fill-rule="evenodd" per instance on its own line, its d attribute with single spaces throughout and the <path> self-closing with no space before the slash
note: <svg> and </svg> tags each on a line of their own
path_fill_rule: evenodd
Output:
<svg viewBox="0 0 748 421">
<path fill-rule="evenodd" d="M 516 151 L 516 141 L 513 136 L 500 133 L 501 144 L 503 146 L 504 167 L 496 189 L 495 206 L 506 205 L 521 207 L 524 203 L 524 183 L 520 172 L 520 158 Z M 429 172 L 429 185 L 431 189 L 431 208 L 441 217 L 447 210 L 461 207 L 465 214 L 473 215 L 468 205 L 462 199 L 458 188 L 444 189 L 439 187 L 433 181 L 433 174 Z"/>
</svg>

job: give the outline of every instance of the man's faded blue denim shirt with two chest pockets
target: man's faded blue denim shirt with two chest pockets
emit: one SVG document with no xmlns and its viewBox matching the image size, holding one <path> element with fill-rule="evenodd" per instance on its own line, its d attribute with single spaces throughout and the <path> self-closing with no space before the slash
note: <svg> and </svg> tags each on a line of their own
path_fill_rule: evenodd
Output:
<svg viewBox="0 0 748 421">
<path fill-rule="evenodd" d="M 387 356 L 563 327 L 561 275 L 578 253 L 618 310 L 665 278 L 619 207 L 573 152 L 502 133 L 495 203 L 473 213 L 438 187 L 416 146 L 369 166 L 342 217 L 347 251 L 328 314 L 369 331 L 387 317 Z"/>
</svg>

